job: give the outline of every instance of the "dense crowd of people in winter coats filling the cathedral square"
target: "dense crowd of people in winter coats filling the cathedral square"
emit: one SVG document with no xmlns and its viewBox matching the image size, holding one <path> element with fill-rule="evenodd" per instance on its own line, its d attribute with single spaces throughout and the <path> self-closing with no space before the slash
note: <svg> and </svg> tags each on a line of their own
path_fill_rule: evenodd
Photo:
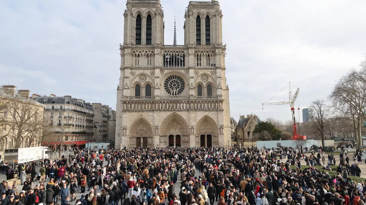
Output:
<svg viewBox="0 0 366 205">
<path fill-rule="evenodd" d="M 30 177 L 20 164 L 22 190 L 4 181 L 0 201 L 1 205 L 364 205 L 365 183 L 349 177 L 358 163 L 344 162 L 337 174 L 330 175 L 328 165 L 312 166 L 321 164 L 320 158 L 323 153 L 304 156 L 291 147 L 77 150 L 60 160 L 45 159 L 40 168 L 33 162 Z M 333 161 L 330 158 L 328 162 Z M 302 159 L 309 166 L 301 166 Z"/>
</svg>

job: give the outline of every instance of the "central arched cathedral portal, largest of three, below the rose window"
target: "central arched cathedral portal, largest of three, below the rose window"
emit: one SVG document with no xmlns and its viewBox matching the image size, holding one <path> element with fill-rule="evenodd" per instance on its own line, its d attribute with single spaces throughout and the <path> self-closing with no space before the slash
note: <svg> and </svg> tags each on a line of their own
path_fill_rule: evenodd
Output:
<svg viewBox="0 0 366 205">
<path fill-rule="evenodd" d="M 162 146 L 189 146 L 189 128 L 182 116 L 172 113 L 165 117 L 160 126 L 160 144 Z"/>
</svg>

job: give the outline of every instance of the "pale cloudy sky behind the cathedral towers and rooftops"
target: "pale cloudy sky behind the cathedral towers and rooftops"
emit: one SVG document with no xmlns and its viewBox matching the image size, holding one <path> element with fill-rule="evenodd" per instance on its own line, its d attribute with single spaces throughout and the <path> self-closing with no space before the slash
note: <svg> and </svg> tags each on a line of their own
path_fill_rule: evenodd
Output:
<svg viewBox="0 0 366 205">
<path fill-rule="evenodd" d="M 165 43 L 183 44 L 188 0 L 161 0 Z M 326 98 L 366 53 L 364 0 L 221 0 L 231 116 L 286 121 L 289 105 L 265 106 L 289 81 L 296 107 Z M 116 107 L 124 0 L 0 1 L 0 84 Z M 293 89 L 296 89 L 293 87 Z M 288 99 L 288 88 L 269 102 Z M 300 114 L 301 115 L 301 114 Z M 300 116 L 300 121 L 301 116 Z"/>
</svg>

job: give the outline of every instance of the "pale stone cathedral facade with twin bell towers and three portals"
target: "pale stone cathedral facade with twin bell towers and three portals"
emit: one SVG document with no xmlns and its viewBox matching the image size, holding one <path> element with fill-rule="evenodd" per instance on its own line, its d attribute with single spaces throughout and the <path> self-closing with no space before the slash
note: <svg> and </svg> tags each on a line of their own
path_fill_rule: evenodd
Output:
<svg viewBox="0 0 366 205">
<path fill-rule="evenodd" d="M 231 143 L 222 17 L 218 1 L 190 1 L 184 45 L 165 45 L 160 0 L 127 0 L 116 149 Z"/>
</svg>

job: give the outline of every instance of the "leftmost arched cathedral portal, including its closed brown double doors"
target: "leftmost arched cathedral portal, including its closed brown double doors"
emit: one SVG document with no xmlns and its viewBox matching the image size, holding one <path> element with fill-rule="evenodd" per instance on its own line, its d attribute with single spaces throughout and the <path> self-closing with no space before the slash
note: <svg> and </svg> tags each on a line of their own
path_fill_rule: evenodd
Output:
<svg viewBox="0 0 366 205">
<path fill-rule="evenodd" d="M 129 147 L 153 147 L 153 129 L 143 118 L 136 120 L 130 128 Z"/>
</svg>

